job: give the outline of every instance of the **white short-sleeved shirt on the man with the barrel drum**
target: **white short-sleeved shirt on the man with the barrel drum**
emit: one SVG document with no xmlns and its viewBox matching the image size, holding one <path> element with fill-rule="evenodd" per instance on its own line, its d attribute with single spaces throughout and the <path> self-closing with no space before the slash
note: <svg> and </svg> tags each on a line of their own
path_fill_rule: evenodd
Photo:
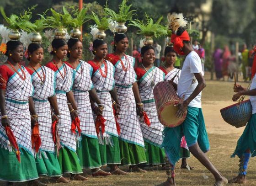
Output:
<svg viewBox="0 0 256 186">
<path fill-rule="evenodd" d="M 178 82 L 178 96 L 180 98 L 185 95 L 184 100 L 192 94 L 192 92 L 196 89 L 198 82 L 195 78 L 194 73 L 201 73 L 203 75 L 203 69 L 201 64 L 201 59 L 195 51 L 192 51 L 185 58 L 181 76 Z M 202 108 L 201 104 L 201 95 L 200 92 L 190 103 L 188 106 Z"/>
</svg>

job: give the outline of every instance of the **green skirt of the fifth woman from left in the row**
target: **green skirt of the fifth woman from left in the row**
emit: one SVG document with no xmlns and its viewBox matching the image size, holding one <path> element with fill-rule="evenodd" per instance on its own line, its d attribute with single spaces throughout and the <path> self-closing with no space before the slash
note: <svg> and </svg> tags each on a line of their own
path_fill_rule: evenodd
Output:
<svg viewBox="0 0 256 186">
<path fill-rule="evenodd" d="M 111 136 L 112 144 L 106 144 L 104 140 L 104 145 L 99 144 L 100 154 L 101 154 L 101 164 L 102 165 L 119 165 L 121 164 L 119 140 L 115 136 Z"/>
</svg>

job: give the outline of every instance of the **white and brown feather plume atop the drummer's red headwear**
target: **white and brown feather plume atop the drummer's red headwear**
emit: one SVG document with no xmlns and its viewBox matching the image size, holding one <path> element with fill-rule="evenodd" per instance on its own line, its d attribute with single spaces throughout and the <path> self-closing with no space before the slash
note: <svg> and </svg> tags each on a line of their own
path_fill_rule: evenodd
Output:
<svg viewBox="0 0 256 186">
<path fill-rule="evenodd" d="M 167 15 L 168 27 L 176 34 L 180 27 L 187 26 L 187 20 L 182 13 L 172 13 Z"/>
</svg>

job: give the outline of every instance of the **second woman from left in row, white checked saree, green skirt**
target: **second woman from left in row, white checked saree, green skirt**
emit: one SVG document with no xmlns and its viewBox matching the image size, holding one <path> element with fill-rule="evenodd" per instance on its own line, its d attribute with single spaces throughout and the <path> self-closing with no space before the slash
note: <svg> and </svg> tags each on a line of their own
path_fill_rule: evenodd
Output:
<svg viewBox="0 0 256 186">
<path fill-rule="evenodd" d="M 40 44 L 31 43 L 27 51 L 29 54 L 27 59 L 30 61 L 27 71 L 31 74 L 34 87 L 33 101 L 38 115 L 38 123 L 40 124 L 39 133 L 42 142 L 36 157 L 37 172 L 38 175 L 51 176 L 58 182 L 68 183 L 62 177 L 53 142 L 52 122 L 59 120 L 59 108 L 54 87 L 54 71 L 40 65 L 43 60 L 43 48 Z M 51 117 L 51 105 L 54 111 L 53 120 Z"/>
</svg>

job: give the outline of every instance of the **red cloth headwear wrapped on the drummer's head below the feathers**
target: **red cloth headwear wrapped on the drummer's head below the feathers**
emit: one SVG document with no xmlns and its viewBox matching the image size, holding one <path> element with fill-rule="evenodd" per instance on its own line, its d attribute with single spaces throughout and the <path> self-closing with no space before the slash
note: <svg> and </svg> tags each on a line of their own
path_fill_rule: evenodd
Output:
<svg viewBox="0 0 256 186">
<path fill-rule="evenodd" d="M 173 43 L 173 49 L 176 53 L 184 55 L 181 48 L 184 46 L 183 41 L 190 41 L 190 37 L 185 30 L 180 36 L 176 34 L 171 34 L 171 43 Z"/>
</svg>

